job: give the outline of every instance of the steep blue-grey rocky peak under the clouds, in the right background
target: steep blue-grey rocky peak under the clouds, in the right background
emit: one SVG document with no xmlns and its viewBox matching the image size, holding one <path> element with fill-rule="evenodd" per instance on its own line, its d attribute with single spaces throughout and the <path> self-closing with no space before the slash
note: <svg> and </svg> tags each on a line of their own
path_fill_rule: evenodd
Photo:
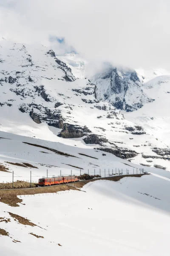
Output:
<svg viewBox="0 0 170 256">
<path fill-rule="evenodd" d="M 135 70 L 110 66 L 92 80 L 96 84 L 96 98 L 121 110 L 134 111 L 154 100 L 143 92 L 143 79 Z"/>
</svg>

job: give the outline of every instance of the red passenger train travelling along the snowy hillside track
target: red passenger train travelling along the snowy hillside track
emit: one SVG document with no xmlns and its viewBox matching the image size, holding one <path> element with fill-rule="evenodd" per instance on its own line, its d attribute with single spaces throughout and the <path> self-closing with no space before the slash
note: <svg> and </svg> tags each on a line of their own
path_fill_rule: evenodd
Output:
<svg viewBox="0 0 170 256">
<path fill-rule="evenodd" d="M 77 176 L 41 178 L 38 180 L 38 186 L 51 186 L 51 185 L 57 185 L 57 184 L 76 182 L 79 180 L 80 179 Z"/>
</svg>

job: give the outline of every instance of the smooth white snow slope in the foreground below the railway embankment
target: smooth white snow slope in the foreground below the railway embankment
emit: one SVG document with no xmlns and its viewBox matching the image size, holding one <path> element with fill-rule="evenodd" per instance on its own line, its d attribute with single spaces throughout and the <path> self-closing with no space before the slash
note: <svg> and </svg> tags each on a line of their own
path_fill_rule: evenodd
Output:
<svg viewBox="0 0 170 256">
<path fill-rule="evenodd" d="M 9 233 L 0 236 L 0 255 L 168 256 L 169 182 L 153 175 L 99 180 L 85 192 L 21 196 L 20 207 L 0 203 L 0 217 L 11 220 L 0 222 Z M 19 224 L 8 212 L 39 227 Z"/>
</svg>

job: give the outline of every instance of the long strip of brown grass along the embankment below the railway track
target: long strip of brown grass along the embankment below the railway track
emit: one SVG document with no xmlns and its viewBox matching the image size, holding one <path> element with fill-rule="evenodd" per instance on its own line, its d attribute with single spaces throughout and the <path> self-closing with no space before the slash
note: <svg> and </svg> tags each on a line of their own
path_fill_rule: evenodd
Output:
<svg viewBox="0 0 170 256">
<path fill-rule="evenodd" d="M 42 193 L 56 193 L 59 191 L 65 191 L 65 190 L 79 190 L 82 188 L 85 184 L 88 182 L 92 182 L 95 180 L 113 180 L 118 181 L 122 179 L 123 177 L 141 177 L 144 174 L 138 174 L 138 175 L 121 175 L 121 176 L 114 176 L 114 177 L 108 177 L 108 178 L 98 178 L 93 180 L 83 180 L 76 183 L 68 183 L 68 184 L 62 184 L 57 186 L 48 186 L 48 187 L 41 187 L 41 188 L 33 188 L 33 189 L 10 189 L 10 190 L 0 190 L 0 202 L 4 204 L 8 204 L 13 207 L 18 207 L 18 203 L 22 202 L 22 199 L 18 198 L 19 195 L 35 195 L 35 194 L 42 194 Z M 71 186 L 71 184 L 74 184 L 76 187 Z"/>
</svg>

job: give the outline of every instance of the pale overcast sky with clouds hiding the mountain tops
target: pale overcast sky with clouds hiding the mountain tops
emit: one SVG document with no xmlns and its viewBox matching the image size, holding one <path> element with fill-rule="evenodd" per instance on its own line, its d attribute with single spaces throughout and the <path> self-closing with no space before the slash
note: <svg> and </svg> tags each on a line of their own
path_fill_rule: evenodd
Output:
<svg viewBox="0 0 170 256">
<path fill-rule="evenodd" d="M 49 46 L 56 36 L 91 60 L 170 70 L 170 1 L 0 0 L 0 37 Z"/>
</svg>

